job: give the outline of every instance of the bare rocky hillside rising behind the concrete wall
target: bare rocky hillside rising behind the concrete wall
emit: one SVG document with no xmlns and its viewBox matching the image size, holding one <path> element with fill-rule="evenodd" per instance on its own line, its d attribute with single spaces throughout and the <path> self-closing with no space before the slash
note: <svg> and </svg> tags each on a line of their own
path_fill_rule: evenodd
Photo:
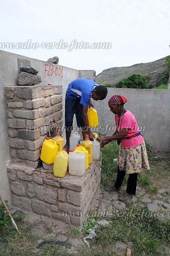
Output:
<svg viewBox="0 0 170 256">
<path fill-rule="evenodd" d="M 145 75 L 148 83 L 156 85 L 156 82 L 162 78 L 167 72 L 167 63 L 165 58 L 148 63 L 139 63 L 129 67 L 111 67 L 105 69 L 102 73 L 96 76 L 97 84 L 112 84 L 116 85 L 118 81 L 133 74 Z"/>
</svg>

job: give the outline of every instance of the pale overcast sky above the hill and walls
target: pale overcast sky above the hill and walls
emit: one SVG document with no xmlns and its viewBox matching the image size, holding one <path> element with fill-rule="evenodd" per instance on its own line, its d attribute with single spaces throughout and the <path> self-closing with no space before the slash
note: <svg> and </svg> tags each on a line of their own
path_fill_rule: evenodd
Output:
<svg viewBox="0 0 170 256">
<path fill-rule="evenodd" d="M 111 43 L 110 49 L 2 49 L 62 66 L 96 70 L 170 55 L 169 0 L 7 0 L 1 2 L 0 43 Z M 21 45 L 18 45 L 21 46 Z M 95 44 L 96 46 L 96 44 Z M 99 44 L 100 46 L 100 44 Z"/>
</svg>

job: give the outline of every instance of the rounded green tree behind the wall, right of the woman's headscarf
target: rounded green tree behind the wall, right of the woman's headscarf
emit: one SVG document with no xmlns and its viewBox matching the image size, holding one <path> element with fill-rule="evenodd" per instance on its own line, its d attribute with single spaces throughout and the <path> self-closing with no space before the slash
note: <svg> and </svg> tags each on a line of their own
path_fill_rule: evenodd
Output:
<svg viewBox="0 0 170 256">
<path fill-rule="evenodd" d="M 147 79 L 146 77 L 140 74 L 133 74 L 120 80 L 116 84 L 117 88 L 139 88 L 139 89 L 147 89 Z"/>
</svg>

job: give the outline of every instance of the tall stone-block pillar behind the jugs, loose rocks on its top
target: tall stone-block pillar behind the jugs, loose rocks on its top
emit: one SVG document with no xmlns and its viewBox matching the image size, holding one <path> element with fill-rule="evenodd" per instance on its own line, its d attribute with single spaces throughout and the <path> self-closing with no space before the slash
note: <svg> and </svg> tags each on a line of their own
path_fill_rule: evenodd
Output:
<svg viewBox="0 0 170 256">
<path fill-rule="evenodd" d="M 7 86 L 5 94 L 11 163 L 42 166 L 45 125 L 62 126 L 62 86 Z"/>
</svg>

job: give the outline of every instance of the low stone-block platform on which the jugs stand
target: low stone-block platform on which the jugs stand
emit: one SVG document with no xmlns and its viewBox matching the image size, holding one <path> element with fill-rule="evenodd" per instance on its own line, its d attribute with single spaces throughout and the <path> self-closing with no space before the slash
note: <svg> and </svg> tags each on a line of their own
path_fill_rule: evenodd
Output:
<svg viewBox="0 0 170 256">
<path fill-rule="evenodd" d="M 38 215 L 80 226 L 100 186 L 101 153 L 93 160 L 85 175 L 63 178 L 43 167 L 35 169 L 20 165 L 7 167 L 12 205 Z"/>
</svg>

